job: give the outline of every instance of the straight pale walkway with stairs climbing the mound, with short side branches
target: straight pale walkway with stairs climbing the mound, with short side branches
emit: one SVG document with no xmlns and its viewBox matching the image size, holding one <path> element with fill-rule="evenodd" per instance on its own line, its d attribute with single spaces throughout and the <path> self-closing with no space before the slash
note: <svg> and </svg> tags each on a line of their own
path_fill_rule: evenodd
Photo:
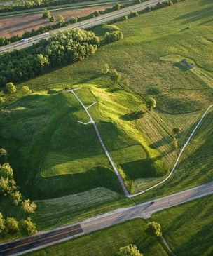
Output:
<svg viewBox="0 0 213 256">
<path fill-rule="evenodd" d="M 95 121 L 92 119 L 92 116 L 90 115 L 90 112 L 88 112 L 88 108 L 89 107 L 92 107 L 92 105 L 94 105 L 96 102 L 94 102 L 94 103 L 92 103 L 89 107 L 85 107 L 84 105 L 83 105 L 83 102 L 80 100 L 80 98 L 78 97 L 78 95 L 76 95 L 76 93 L 74 93 L 74 90 L 79 90 L 79 88 L 76 88 L 76 89 L 72 89 L 72 90 L 66 90 L 64 93 L 67 93 L 67 92 L 71 92 L 71 93 L 73 93 L 74 94 L 74 96 L 76 97 L 76 99 L 78 100 L 78 102 L 80 102 L 81 103 L 81 106 L 83 107 L 83 109 L 85 109 L 85 112 L 88 114 L 88 116 L 90 117 L 90 122 L 88 122 L 88 123 L 92 123 L 93 124 L 93 126 L 94 126 L 94 128 L 95 128 L 95 132 L 97 133 L 97 137 L 98 137 L 98 139 L 99 139 L 99 142 L 102 144 L 102 147 L 103 147 L 103 149 L 104 149 L 104 152 L 105 152 L 105 154 L 107 155 L 107 157 L 108 157 L 108 159 L 109 159 L 109 162 L 111 163 L 111 166 L 114 168 L 114 171 L 116 172 L 116 175 L 117 175 L 117 177 L 118 177 L 118 180 L 119 180 L 119 182 L 120 182 L 120 184 L 121 184 L 121 187 L 122 187 L 122 189 L 123 189 L 123 191 L 124 191 L 124 194 L 125 194 L 125 196 L 130 196 L 130 194 L 128 193 L 128 190 L 126 189 L 126 187 L 125 187 L 125 184 L 124 184 L 124 182 L 123 182 L 123 179 L 122 179 L 122 177 L 121 177 L 121 174 L 118 172 L 118 170 L 117 170 L 117 168 L 116 168 L 116 166 L 115 166 L 115 164 L 114 164 L 114 161 L 111 159 L 111 156 L 109 155 L 109 152 L 108 152 L 108 150 L 107 150 L 107 147 L 105 146 L 105 144 L 104 144 L 104 142 L 103 142 L 103 140 L 102 140 L 102 137 L 101 137 L 101 135 L 100 135 L 100 133 L 99 133 L 99 130 L 98 130 L 98 128 L 97 128 L 97 125 L 96 125 L 96 123 L 95 123 Z M 83 122 L 81 122 L 81 121 L 78 121 L 79 123 L 83 123 Z M 83 124 L 87 124 L 87 123 L 83 123 Z"/>
</svg>

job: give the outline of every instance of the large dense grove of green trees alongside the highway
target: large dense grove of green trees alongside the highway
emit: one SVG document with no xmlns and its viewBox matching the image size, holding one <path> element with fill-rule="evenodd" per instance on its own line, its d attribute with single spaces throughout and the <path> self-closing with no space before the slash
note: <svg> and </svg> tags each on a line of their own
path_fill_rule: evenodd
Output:
<svg viewBox="0 0 213 256">
<path fill-rule="evenodd" d="M 3 53 L 0 55 L 0 86 L 87 58 L 98 46 L 99 38 L 93 32 L 75 28 L 52 34 L 50 39 L 43 39 L 29 48 Z"/>
</svg>

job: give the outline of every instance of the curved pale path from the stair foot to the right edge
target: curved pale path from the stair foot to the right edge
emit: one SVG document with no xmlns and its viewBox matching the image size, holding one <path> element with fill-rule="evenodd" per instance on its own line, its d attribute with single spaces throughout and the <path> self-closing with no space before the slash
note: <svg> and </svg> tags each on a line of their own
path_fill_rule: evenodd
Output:
<svg viewBox="0 0 213 256">
<path fill-rule="evenodd" d="M 174 163 L 174 167 L 172 168 L 172 171 L 171 171 L 170 175 L 168 175 L 168 176 L 165 178 L 165 180 L 163 180 L 162 182 L 159 182 L 158 184 L 154 185 L 153 187 L 150 187 L 149 189 L 146 189 L 146 190 L 144 190 L 144 191 L 141 191 L 141 192 L 139 192 L 139 193 L 137 193 L 137 194 L 132 194 L 132 195 L 130 195 L 129 197 L 138 196 L 138 195 L 140 195 L 140 194 L 145 193 L 146 191 L 149 191 L 149 190 L 151 190 L 151 189 L 153 189 L 153 188 L 155 188 L 155 187 L 158 187 L 160 184 L 164 183 L 166 180 L 168 180 L 168 179 L 171 177 L 172 173 L 174 172 L 174 169 L 175 169 L 176 166 L 177 166 L 177 163 L 179 162 L 179 159 L 181 158 L 181 154 L 183 154 L 184 149 L 186 148 L 188 142 L 190 142 L 191 137 L 192 137 L 193 134 L 195 133 L 195 130 L 197 130 L 198 126 L 200 126 L 200 123 L 201 123 L 202 120 L 205 118 L 207 112 L 209 112 L 209 109 L 210 109 L 211 107 L 213 107 L 213 104 L 210 105 L 210 106 L 207 108 L 207 110 L 205 111 L 205 113 L 202 115 L 200 121 L 199 121 L 198 124 L 195 126 L 193 132 L 192 132 L 191 135 L 188 137 L 188 140 L 186 141 L 186 143 L 184 144 L 184 147 L 181 149 L 181 151 L 180 151 L 180 153 L 179 153 L 179 156 L 178 156 L 178 158 L 177 158 L 177 161 Z"/>
</svg>

